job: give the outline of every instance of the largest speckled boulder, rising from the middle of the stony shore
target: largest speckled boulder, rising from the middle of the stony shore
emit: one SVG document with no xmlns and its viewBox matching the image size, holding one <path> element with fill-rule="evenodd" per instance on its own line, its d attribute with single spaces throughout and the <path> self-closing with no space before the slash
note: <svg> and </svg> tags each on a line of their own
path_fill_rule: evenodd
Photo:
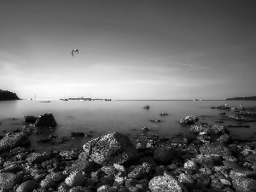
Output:
<svg viewBox="0 0 256 192">
<path fill-rule="evenodd" d="M 84 151 L 90 159 L 102 166 L 129 164 L 137 160 L 137 148 L 131 140 L 123 134 L 113 132 L 85 143 Z"/>
</svg>

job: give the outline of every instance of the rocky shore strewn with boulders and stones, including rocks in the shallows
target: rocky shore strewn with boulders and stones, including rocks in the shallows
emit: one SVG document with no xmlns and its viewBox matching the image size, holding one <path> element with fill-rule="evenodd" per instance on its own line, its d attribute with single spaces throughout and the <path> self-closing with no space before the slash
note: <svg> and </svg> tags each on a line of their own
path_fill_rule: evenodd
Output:
<svg viewBox="0 0 256 192">
<path fill-rule="evenodd" d="M 236 108 L 240 118 L 234 120 L 246 121 L 255 111 L 255 107 Z M 24 121 L 45 129 L 56 125 L 51 113 L 26 117 Z M 45 152 L 30 149 L 28 129 L 8 133 L 0 140 L 0 189 L 3 192 L 256 191 L 256 142 L 232 137 L 225 126 L 201 123 L 194 115 L 181 120 L 181 124 L 188 124 L 191 134 L 146 136 L 143 132 L 148 130 L 142 129 L 137 143 L 133 143 L 125 135 L 113 132 L 91 138 L 80 148 Z"/>
</svg>

